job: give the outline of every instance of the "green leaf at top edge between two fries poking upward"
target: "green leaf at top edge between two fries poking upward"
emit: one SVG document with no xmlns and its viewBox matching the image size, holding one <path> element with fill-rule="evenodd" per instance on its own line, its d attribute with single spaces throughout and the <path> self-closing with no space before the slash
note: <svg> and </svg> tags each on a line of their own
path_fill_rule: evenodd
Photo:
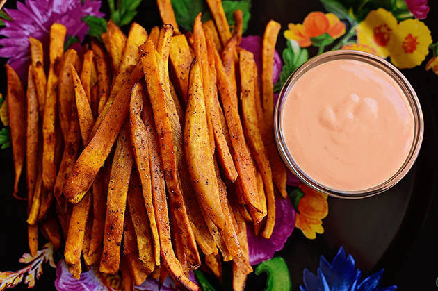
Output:
<svg viewBox="0 0 438 291">
<path fill-rule="evenodd" d="M 189 31 L 193 31 L 193 23 L 197 14 L 208 9 L 203 0 L 172 0 L 172 7 L 177 24 Z"/>
</svg>

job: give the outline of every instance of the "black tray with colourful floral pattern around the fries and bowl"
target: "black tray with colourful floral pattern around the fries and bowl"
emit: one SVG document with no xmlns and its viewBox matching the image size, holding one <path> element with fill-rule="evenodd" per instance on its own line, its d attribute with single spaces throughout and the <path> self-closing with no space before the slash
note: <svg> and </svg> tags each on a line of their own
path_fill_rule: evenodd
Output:
<svg viewBox="0 0 438 291">
<path fill-rule="evenodd" d="M 67 26 L 69 46 L 82 42 L 87 34 L 99 35 L 104 29 L 99 17 L 104 15 L 121 25 L 136 21 L 149 29 L 161 24 L 155 1 L 118 2 L 121 5 L 113 11 L 108 6 L 108 3 L 113 3 L 111 0 L 102 0 L 102 3 L 92 0 L 38 0 L 38 5 L 36 0 L 24 3 L 8 1 L 7 9 L 2 10 L 0 15 L 6 24 L 6 28 L 3 23 L 0 28 L 0 35 L 5 36 L 0 39 L 3 63 L 8 61 L 17 72 L 24 74 L 26 69 L 23 68 L 29 62 L 27 38 L 33 36 L 47 40 L 47 28 L 55 21 Z M 438 108 L 438 77 L 435 76 L 438 74 L 438 58 L 435 56 L 438 55 L 438 43 L 433 44 L 432 41 L 438 40 L 437 1 L 223 2 L 226 13 L 243 10 L 246 38 L 242 46 L 252 50 L 256 57 L 261 40 L 258 35 L 263 34 L 268 19 L 282 24 L 273 76 L 277 81 L 276 91 L 289 74 L 311 56 L 330 49 L 358 49 L 388 58 L 403 69 L 419 95 L 425 118 L 425 137 L 416 165 L 396 187 L 378 197 L 357 201 L 327 199 L 324 194 L 300 185 L 296 178 L 290 176 L 290 199 L 277 203 L 273 238 L 264 240 L 249 235 L 250 263 L 256 272 L 248 277 L 247 290 L 261 290 L 267 278 L 270 282 L 268 289 L 275 285 L 279 290 L 394 290 L 394 285 L 398 285 L 400 290 L 433 290 L 438 274 L 433 277 L 429 276 L 430 272 L 420 272 L 416 265 L 411 265 L 412 260 L 407 260 L 407 256 L 414 256 L 421 247 L 416 242 L 417 235 L 420 234 L 422 240 L 428 239 L 421 226 L 424 222 L 426 226 L 430 224 L 428 210 L 433 206 L 432 195 L 437 181 L 437 173 L 433 169 L 438 162 L 435 124 Z M 190 28 L 197 12 L 206 10 L 203 0 L 172 0 L 172 3 L 177 22 L 184 28 Z M 3 80 L 0 92 L 6 94 L 5 72 L 3 69 L 0 71 Z M 51 244 L 43 239 L 37 256 L 32 258 L 27 253 L 26 204 L 11 195 L 13 161 L 8 149 L 9 133 L 4 116 L 0 107 L 0 182 L 3 185 L 0 198 L 3 222 L 0 290 L 12 287 L 120 290 L 120 276 L 102 276 L 94 269 L 84 273 L 81 281 L 74 281 L 63 263 L 62 252 L 54 251 Z M 424 235 L 426 238 L 422 238 Z M 407 252 L 409 249 L 410 253 Z M 417 259 L 414 262 L 422 261 Z M 384 272 L 381 271 L 383 268 Z M 205 270 L 197 272 L 193 280 L 197 280 L 203 290 L 209 290 L 206 288 L 211 286 L 216 290 L 230 290 L 232 274 L 226 266 L 223 272 L 223 283 Z M 268 276 L 263 272 L 267 272 Z M 427 281 L 420 283 L 413 283 L 407 278 L 407 274 L 416 276 L 426 273 Z M 163 285 L 148 280 L 138 290 L 173 290 L 174 287 L 175 284 L 168 278 Z"/>
</svg>

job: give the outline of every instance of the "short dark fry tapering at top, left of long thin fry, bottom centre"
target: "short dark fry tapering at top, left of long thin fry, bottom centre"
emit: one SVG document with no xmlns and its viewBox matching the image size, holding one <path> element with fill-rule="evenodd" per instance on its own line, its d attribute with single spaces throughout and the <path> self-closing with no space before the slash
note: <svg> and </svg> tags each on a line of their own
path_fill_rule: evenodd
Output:
<svg viewBox="0 0 438 291">
<path fill-rule="evenodd" d="M 145 202 L 141 194 L 141 185 L 138 175 L 134 172 L 131 176 L 128 194 L 129 214 L 131 215 L 133 227 L 136 231 L 137 247 L 140 260 L 145 264 L 149 274 L 154 271 L 154 245 L 152 240 L 149 219 L 147 218 Z"/>
</svg>

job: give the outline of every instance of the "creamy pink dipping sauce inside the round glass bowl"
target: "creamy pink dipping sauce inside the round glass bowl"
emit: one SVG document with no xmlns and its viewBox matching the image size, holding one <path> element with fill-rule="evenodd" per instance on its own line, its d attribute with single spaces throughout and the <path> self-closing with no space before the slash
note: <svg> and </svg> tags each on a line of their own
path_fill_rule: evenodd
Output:
<svg viewBox="0 0 438 291">
<path fill-rule="evenodd" d="M 414 116 L 389 74 L 358 60 L 331 60 L 302 75 L 287 94 L 282 134 L 307 176 L 358 191 L 384 183 L 403 165 Z"/>
</svg>

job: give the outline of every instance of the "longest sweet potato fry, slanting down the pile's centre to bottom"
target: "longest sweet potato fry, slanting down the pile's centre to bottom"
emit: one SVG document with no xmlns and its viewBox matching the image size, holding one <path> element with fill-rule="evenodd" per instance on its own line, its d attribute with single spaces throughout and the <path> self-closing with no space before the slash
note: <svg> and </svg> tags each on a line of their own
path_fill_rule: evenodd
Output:
<svg viewBox="0 0 438 291">
<path fill-rule="evenodd" d="M 162 58 L 154 49 L 152 41 L 146 42 L 140 47 L 141 63 L 146 78 L 147 90 L 154 112 L 154 122 L 156 131 L 159 133 L 159 142 L 161 147 L 161 157 L 163 158 L 163 167 L 165 169 L 166 185 L 170 193 L 170 210 L 175 213 L 175 219 L 181 237 L 184 238 L 185 254 L 190 265 L 197 265 L 200 262 L 199 253 L 193 230 L 190 228 L 186 207 L 181 190 L 179 178 L 179 168 L 177 164 L 177 153 L 172 137 L 172 125 L 169 118 L 169 110 L 166 106 L 168 97 L 164 88 L 164 74 L 162 69 Z"/>
</svg>

